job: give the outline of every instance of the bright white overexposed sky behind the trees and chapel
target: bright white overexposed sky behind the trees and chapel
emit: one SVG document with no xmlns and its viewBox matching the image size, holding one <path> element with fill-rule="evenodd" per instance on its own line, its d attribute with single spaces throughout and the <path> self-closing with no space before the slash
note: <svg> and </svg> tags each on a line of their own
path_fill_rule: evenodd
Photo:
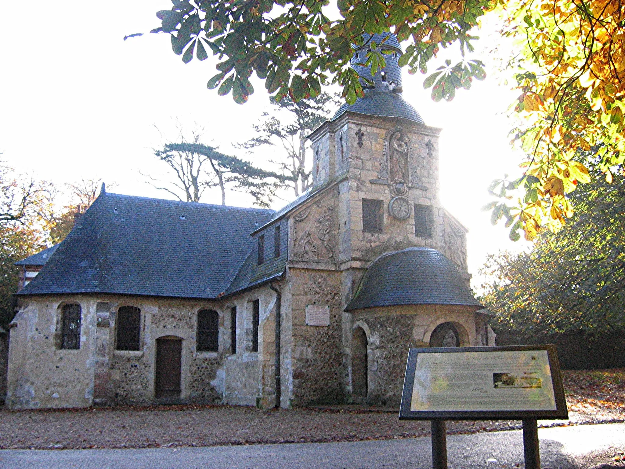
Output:
<svg viewBox="0 0 625 469">
<path fill-rule="evenodd" d="M 170 8 L 166 0 L 34 0 L 28 5 L 0 6 L 0 152 L 18 171 L 59 184 L 102 178 L 117 183 L 118 193 L 169 198 L 139 174 L 163 171 L 151 153 L 162 142 L 154 126 L 173 139 L 176 121 L 185 128 L 197 125 L 205 129 L 206 143 L 236 153 L 230 143 L 251 138 L 252 124 L 269 108 L 259 81 L 252 82 L 256 93 L 244 105 L 207 90 L 216 59 L 183 64 L 166 34 L 123 41 L 126 34 L 159 26 L 154 13 Z M 494 41 L 482 39 L 482 44 L 491 48 Z M 489 71 L 489 54 L 476 56 Z M 470 230 L 474 287 L 481 283 L 477 269 L 487 253 L 522 248 L 480 211 L 491 200 L 490 181 L 516 174 L 521 159 L 509 146 L 512 124 L 505 114 L 518 93 L 498 86 L 492 75 L 470 91 L 459 91 L 451 103 L 431 101 L 422 87 L 424 76 L 404 71 L 403 78 L 404 98 L 428 125 L 443 129 L 441 198 Z M 262 157 L 256 158 L 261 165 Z M 221 203 L 219 193 L 204 202 Z M 237 194 L 229 194 L 227 202 L 249 204 Z M 277 201 L 274 208 L 282 204 Z"/>
</svg>

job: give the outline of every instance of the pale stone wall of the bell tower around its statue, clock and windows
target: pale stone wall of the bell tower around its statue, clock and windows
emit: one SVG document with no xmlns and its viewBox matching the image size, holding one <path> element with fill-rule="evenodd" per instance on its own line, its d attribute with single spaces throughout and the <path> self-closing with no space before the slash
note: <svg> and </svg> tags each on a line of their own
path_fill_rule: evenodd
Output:
<svg viewBox="0 0 625 469">
<path fill-rule="evenodd" d="M 342 268 L 364 267 L 377 256 L 408 246 L 444 248 L 444 211 L 439 202 L 438 134 L 439 129 L 417 124 L 406 119 L 381 118 L 346 113 L 327 123 L 311 136 L 312 148 L 327 153 L 326 161 L 332 168 L 317 171 L 321 175 L 336 173 L 345 178 L 339 184 L 339 252 Z M 398 192 L 394 181 L 397 169 L 391 174 L 390 139 L 394 133 L 406 145 L 405 166 L 401 174 L 406 181 Z M 334 145 L 332 145 L 334 140 Z M 333 148 L 332 148 L 333 147 Z M 324 159 L 321 159 L 324 161 Z M 396 163 L 396 161 L 395 161 Z M 409 213 L 405 219 L 391 214 L 389 203 L 402 198 Z M 379 233 L 362 229 L 362 199 L 382 201 Z M 414 205 L 431 207 L 431 233 L 416 233 Z M 362 265 L 361 265 L 362 264 Z"/>
</svg>

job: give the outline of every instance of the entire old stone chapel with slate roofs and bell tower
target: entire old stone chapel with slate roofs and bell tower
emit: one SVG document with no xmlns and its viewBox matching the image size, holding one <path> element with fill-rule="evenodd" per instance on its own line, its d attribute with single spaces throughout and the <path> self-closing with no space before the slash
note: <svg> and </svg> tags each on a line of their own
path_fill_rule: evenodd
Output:
<svg viewBox="0 0 625 469">
<path fill-rule="evenodd" d="M 9 408 L 398 406 L 409 347 L 494 345 L 440 203 L 440 130 L 402 99 L 396 38 L 366 39 L 352 66 L 374 84 L 309 136 L 314 186 L 292 203 L 103 184 L 66 240 L 18 263 Z M 358 65 L 372 43 L 391 51 L 375 76 Z"/>
</svg>

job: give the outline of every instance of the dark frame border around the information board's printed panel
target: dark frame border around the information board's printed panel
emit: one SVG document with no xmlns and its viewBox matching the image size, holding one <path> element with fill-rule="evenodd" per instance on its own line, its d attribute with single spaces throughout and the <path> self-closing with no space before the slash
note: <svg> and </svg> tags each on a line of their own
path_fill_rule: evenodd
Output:
<svg viewBox="0 0 625 469">
<path fill-rule="evenodd" d="M 419 353 L 497 352 L 545 350 L 549 360 L 551 382 L 556 400 L 556 410 L 419 410 L 412 411 L 412 390 Z M 406 362 L 406 374 L 399 407 L 399 420 L 524 420 L 568 419 L 569 412 L 564 398 L 560 364 L 555 345 L 508 345 L 490 347 L 431 347 L 410 348 Z"/>
</svg>

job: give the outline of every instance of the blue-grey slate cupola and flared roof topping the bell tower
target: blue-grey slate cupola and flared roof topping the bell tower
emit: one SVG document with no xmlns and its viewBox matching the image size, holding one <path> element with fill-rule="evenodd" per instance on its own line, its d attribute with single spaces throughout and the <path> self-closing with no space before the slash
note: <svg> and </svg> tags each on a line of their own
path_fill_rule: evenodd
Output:
<svg viewBox="0 0 625 469">
<path fill-rule="evenodd" d="M 386 40 L 384 40 L 386 38 Z M 384 40 L 384 43 L 382 43 Z M 364 67 L 367 51 L 371 50 L 373 43 L 381 50 L 392 51 L 392 54 L 385 55 L 386 66 L 371 76 L 371 68 Z M 361 77 L 374 82 L 374 85 L 361 79 L 364 88 L 364 97 L 357 98 L 354 104 L 343 104 L 332 120 L 341 114 L 351 111 L 352 113 L 367 114 L 369 116 L 396 117 L 409 119 L 423 124 L 423 119 L 410 103 L 401 97 L 401 68 L 397 61 L 401 56 L 401 46 L 397 42 L 397 37 L 392 33 L 364 34 L 364 44 L 356 49 L 351 59 L 351 66 Z"/>
</svg>

